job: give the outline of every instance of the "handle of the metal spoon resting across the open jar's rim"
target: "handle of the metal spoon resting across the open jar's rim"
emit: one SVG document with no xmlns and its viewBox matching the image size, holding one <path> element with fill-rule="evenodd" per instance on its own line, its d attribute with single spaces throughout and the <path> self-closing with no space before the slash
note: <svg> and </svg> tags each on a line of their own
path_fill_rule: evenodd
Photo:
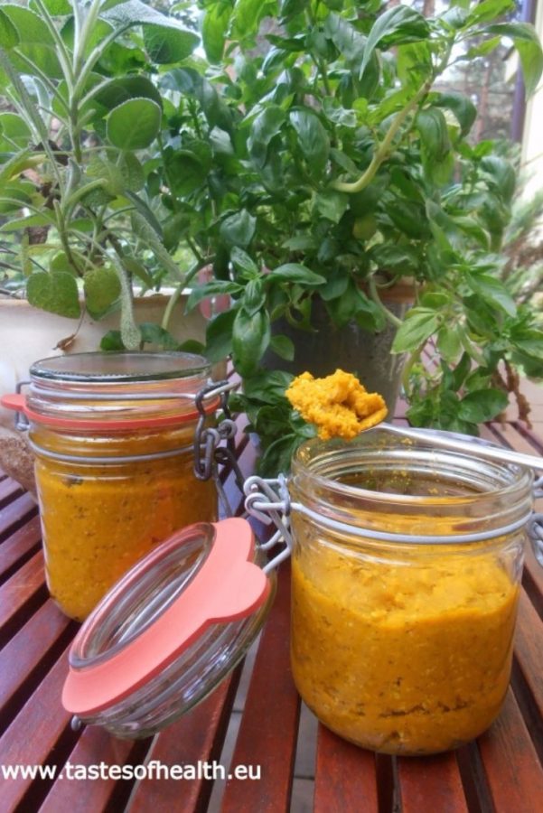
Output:
<svg viewBox="0 0 543 813">
<path fill-rule="evenodd" d="M 520 466 L 527 466 L 529 469 L 536 469 L 537 471 L 543 472 L 543 458 L 537 457 L 535 454 L 511 452 L 510 449 L 506 449 L 504 446 L 491 444 L 489 441 L 482 440 L 480 437 L 460 435 L 456 432 L 445 432 L 443 429 L 412 429 L 410 427 L 393 426 L 391 424 L 378 424 L 375 428 L 385 429 L 392 435 L 409 437 L 412 440 L 428 441 L 434 446 L 439 446 L 443 449 L 451 449 L 456 452 L 473 453 L 473 446 L 476 446 L 476 452 L 481 455 L 481 457 L 498 460 L 501 463 L 510 461 L 510 463 L 517 463 Z"/>
</svg>

